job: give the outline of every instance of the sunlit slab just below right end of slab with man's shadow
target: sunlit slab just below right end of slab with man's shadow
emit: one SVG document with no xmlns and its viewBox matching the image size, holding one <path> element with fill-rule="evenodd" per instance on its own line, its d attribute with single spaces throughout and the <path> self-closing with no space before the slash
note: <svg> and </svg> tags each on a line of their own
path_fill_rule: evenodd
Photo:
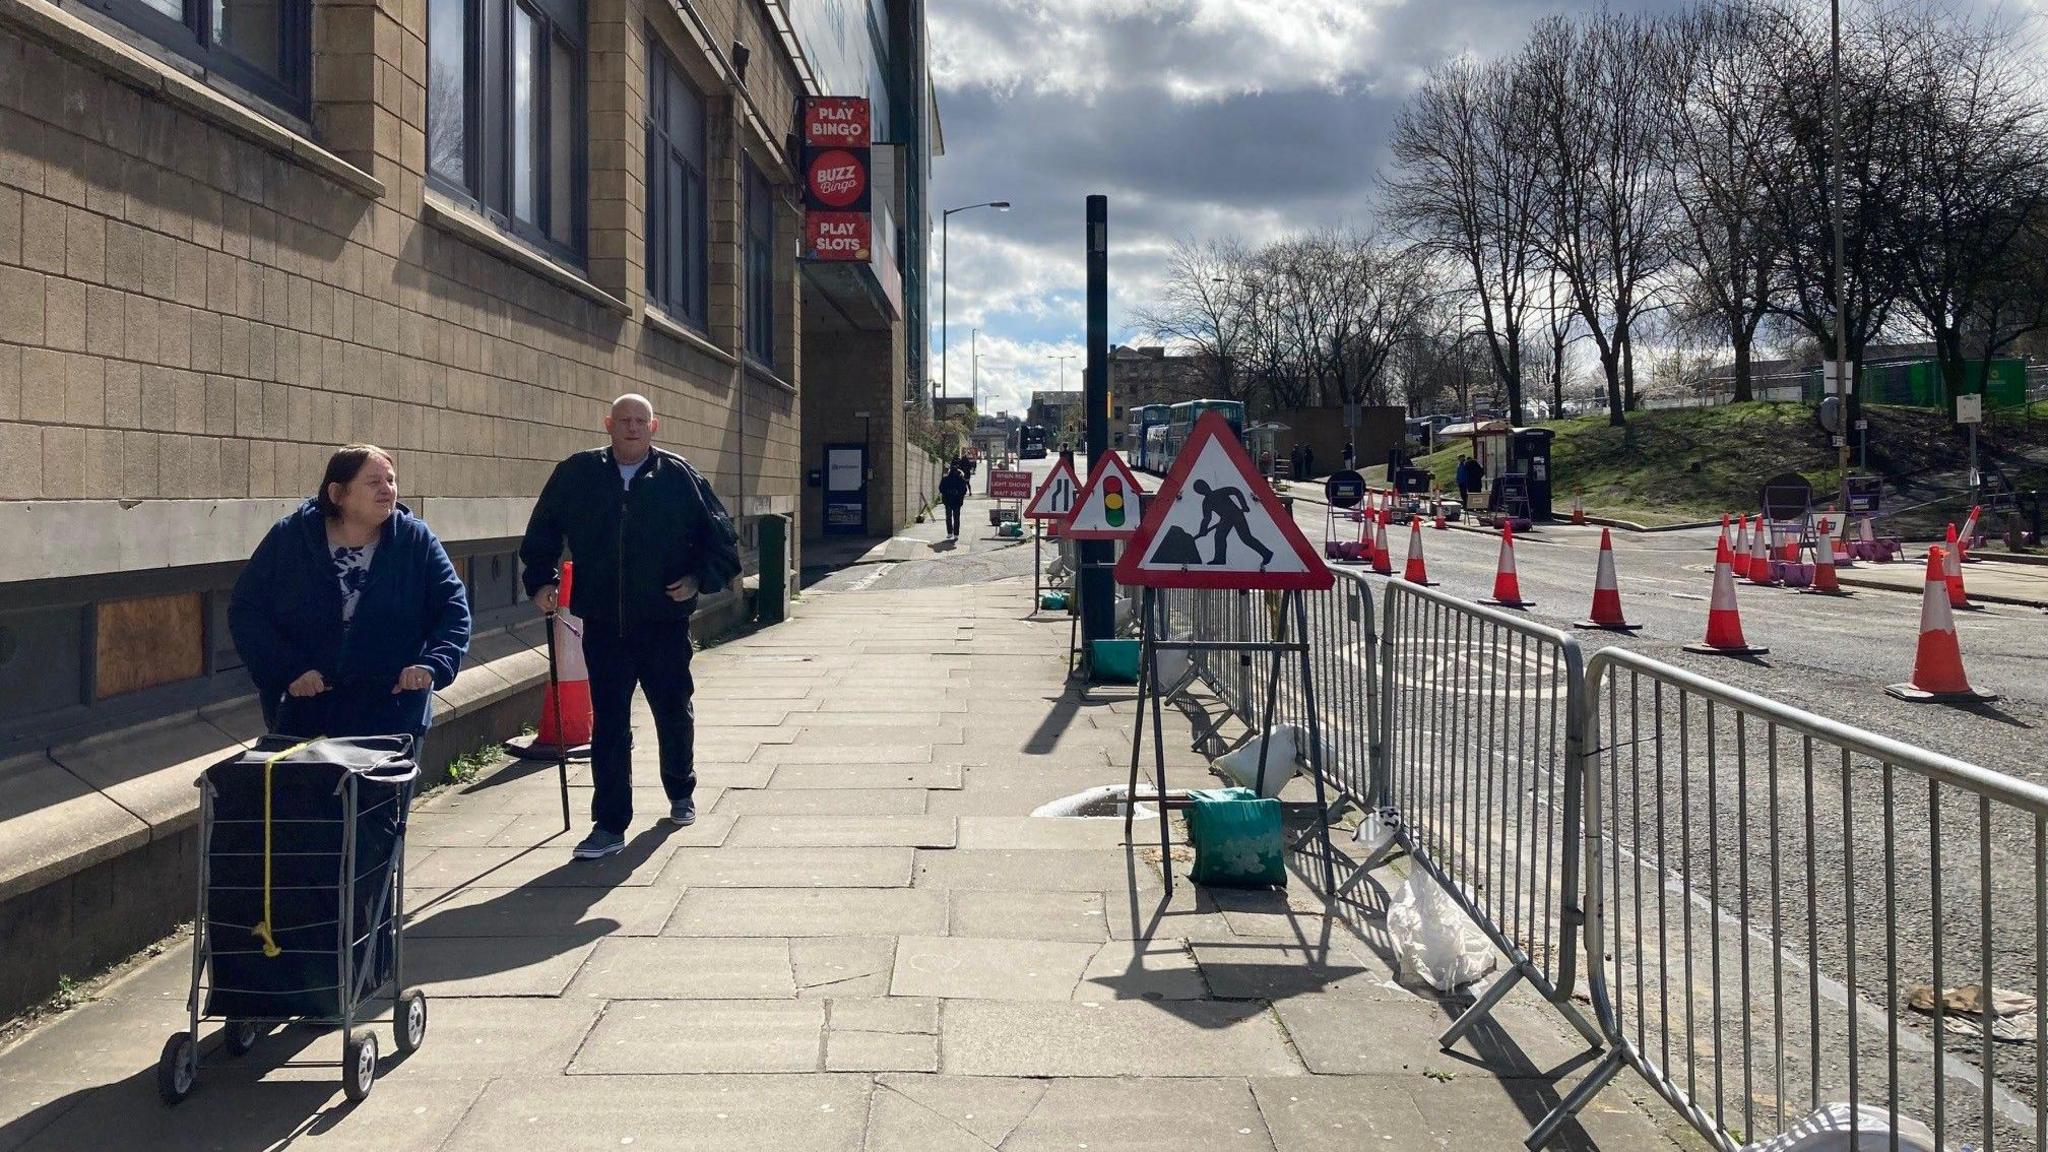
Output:
<svg viewBox="0 0 2048 1152">
<path fill-rule="evenodd" d="M 569 984 L 602 1000 L 793 1000 L 788 941 L 645 937 L 606 939 Z"/>
</svg>

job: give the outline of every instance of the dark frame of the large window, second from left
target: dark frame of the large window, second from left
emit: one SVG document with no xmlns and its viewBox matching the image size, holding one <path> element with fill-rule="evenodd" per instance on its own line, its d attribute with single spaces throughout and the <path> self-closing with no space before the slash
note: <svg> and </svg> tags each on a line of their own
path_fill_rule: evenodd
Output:
<svg viewBox="0 0 2048 1152">
<path fill-rule="evenodd" d="M 137 2 L 137 0 L 123 0 Z M 301 0 L 303 2 L 303 0 Z M 483 215 L 498 230 L 516 236 L 559 262 L 584 266 L 590 250 L 590 148 L 588 131 L 573 125 L 590 123 L 590 39 L 588 10 L 582 0 L 453 0 L 463 8 L 463 178 L 434 166 L 434 98 L 432 98 L 432 0 L 428 2 L 428 98 L 426 98 L 426 184 L 436 193 Z M 516 211 L 518 172 L 514 170 L 516 92 L 512 78 L 518 61 L 512 55 L 516 14 L 535 18 L 532 37 L 532 201 L 535 219 Z M 569 139 L 555 137 L 555 43 L 567 47 L 569 68 Z M 569 150 L 569 242 L 555 238 L 553 162 L 559 146 Z"/>
</svg>

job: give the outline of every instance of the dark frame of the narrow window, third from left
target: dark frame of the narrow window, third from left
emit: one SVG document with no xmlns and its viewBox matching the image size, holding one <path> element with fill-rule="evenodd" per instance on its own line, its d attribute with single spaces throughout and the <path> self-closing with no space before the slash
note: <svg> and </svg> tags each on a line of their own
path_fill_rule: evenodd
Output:
<svg viewBox="0 0 2048 1152">
<path fill-rule="evenodd" d="M 645 232 L 647 262 L 645 289 L 664 316 L 709 332 L 711 328 L 711 96 L 707 96 L 684 72 L 682 61 L 662 43 L 653 27 L 647 27 L 647 131 L 645 131 Z M 670 123 L 674 109 L 668 102 L 670 86 L 696 100 L 696 154 L 690 156 L 688 139 L 676 139 L 676 125 Z M 682 170 L 682 203 L 670 189 L 670 172 Z M 692 187 L 694 178 L 694 187 Z M 680 232 L 682 236 L 670 236 Z M 684 264 L 680 277 L 674 266 Z M 674 287 L 670 281 L 678 281 Z M 678 295 L 680 289 L 680 295 Z"/>
</svg>

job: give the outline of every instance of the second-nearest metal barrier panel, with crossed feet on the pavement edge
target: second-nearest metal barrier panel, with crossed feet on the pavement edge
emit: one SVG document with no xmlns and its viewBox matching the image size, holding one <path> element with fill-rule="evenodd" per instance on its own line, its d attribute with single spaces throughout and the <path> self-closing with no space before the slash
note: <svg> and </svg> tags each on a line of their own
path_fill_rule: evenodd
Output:
<svg viewBox="0 0 2048 1152">
<path fill-rule="evenodd" d="M 1395 842 L 1464 906 L 1513 972 L 1444 1033 L 1532 982 L 1571 1004 L 1579 933 L 1579 642 L 1391 580 L 1380 644 L 1384 801 Z"/>
</svg>

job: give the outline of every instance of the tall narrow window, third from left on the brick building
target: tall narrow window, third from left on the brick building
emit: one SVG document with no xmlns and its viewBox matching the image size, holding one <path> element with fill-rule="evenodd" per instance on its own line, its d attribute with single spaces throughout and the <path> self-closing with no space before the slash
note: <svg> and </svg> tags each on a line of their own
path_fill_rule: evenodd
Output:
<svg viewBox="0 0 2048 1152">
<path fill-rule="evenodd" d="M 662 312 L 705 326 L 709 213 L 705 98 L 682 78 L 653 29 L 647 53 L 647 295 Z"/>
</svg>

